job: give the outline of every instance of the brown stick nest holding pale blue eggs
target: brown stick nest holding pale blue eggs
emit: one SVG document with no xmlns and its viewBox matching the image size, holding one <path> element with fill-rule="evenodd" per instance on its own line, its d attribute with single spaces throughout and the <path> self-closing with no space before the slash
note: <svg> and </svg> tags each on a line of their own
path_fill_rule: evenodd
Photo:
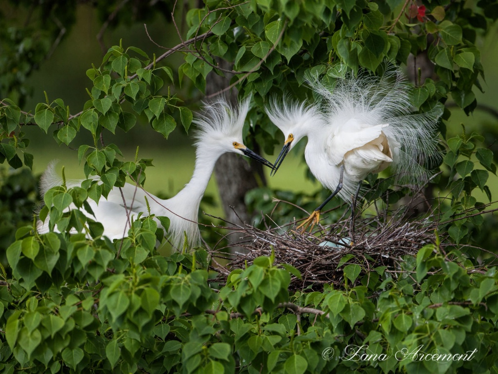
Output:
<svg viewBox="0 0 498 374">
<path fill-rule="evenodd" d="M 416 256 L 419 249 L 431 243 L 439 243 L 443 253 L 453 246 L 446 234 L 437 234 L 440 223 L 434 213 L 410 219 L 407 206 L 371 217 L 357 214 L 354 226 L 351 218 L 343 216 L 339 222 L 320 225 L 312 233 L 297 232 L 295 222 L 286 227 L 266 225 L 265 230 L 232 224 L 227 235 L 232 243 L 212 251 L 214 270 L 220 274 L 216 281 L 224 283 L 231 270 L 244 269 L 254 258 L 272 253 L 275 264 L 290 264 L 300 271 L 301 278 L 292 277 L 292 289 L 319 290 L 324 283 L 342 287 L 344 267 L 349 264 L 360 265 L 364 273 L 385 266 L 384 271 L 396 277 L 407 271 L 403 266 L 406 255 Z"/>
</svg>

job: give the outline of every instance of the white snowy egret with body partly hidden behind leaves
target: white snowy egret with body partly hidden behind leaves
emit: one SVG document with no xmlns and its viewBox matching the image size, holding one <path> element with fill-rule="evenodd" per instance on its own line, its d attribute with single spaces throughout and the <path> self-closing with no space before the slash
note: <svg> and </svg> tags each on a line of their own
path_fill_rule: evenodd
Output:
<svg viewBox="0 0 498 374">
<path fill-rule="evenodd" d="M 113 240 L 126 237 L 130 228 L 130 220 L 135 219 L 139 213 L 147 216 L 150 211 L 150 214 L 156 217 L 169 218 L 168 240 L 174 249 L 182 249 L 184 235 L 187 236 L 190 247 L 196 246 L 200 241 L 197 224 L 199 204 L 217 159 L 223 153 L 235 152 L 255 159 L 268 167 L 273 167 L 273 164 L 254 153 L 243 143 L 242 128 L 249 111 L 249 101 L 250 98 L 247 98 L 235 107 L 228 104 L 225 99 L 218 99 L 206 105 L 204 112 L 194 119 L 193 122 L 198 126 L 195 135 L 197 149 L 194 173 L 190 182 L 175 196 L 162 200 L 134 184 L 126 183 L 121 189 L 115 187 L 107 199 L 102 197 L 98 204 L 88 199 L 95 216 L 85 210 L 82 212 L 87 217 L 102 223 L 103 235 Z M 81 182 L 81 180 L 67 181 L 66 185 L 68 187 L 79 186 Z M 49 188 L 62 184 L 61 177 L 55 172 L 54 163 L 47 168 L 40 184 L 43 194 Z M 69 207 L 69 209 L 74 208 L 76 208 L 74 205 Z M 126 209 L 128 209 L 128 214 Z M 38 232 L 48 231 L 47 218 L 45 222 L 38 223 Z"/>
</svg>

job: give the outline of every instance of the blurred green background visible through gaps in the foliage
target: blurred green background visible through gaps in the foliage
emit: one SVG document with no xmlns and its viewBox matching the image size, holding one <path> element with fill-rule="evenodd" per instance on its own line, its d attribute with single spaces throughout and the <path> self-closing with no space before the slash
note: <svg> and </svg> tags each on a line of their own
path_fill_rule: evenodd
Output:
<svg viewBox="0 0 498 374">
<path fill-rule="evenodd" d="M 178 13 L 178 18 L 180 18 L 181 11 Z M 91 68 L 92 64 L 100 65 L 104 54 L 96 38 L 100 30 L 100 22 L 97 11 L 86 3 L 78 5 L 76 14 L 77 21 L 72 29 L 68 30 L 67 37 L 58 45 L 52 56 L 31 75 L 29 85 L 32 87 L 32 95 L 28 98 L 23 110 L 34 112 L 36 104 L 45 101 L 44 91 L 46 91 L 50 101 L 62 98 L 70 106 L 72 114 L 81 111 L 83 104 L 88 100 L 88 94 L 83 87 L 91 87 L 91 81 L 85 75 L 85 71 Z M 147 30 L 155 43 L 172 47 L 179 43 L 179 39 L 173 26 L 164 21 L 164 17 L 167 16 L 167 14 L 164 16 L 157 14 L 152 22 L 147 23 Z M 7 18 L 9 17 L 22 19 L 23 15 L 15 13 L 15 9 L 12 9 L 10 12 L 7 11 Z M 487 38 L 481 38 L 478 41 L 478 47 L 482 51 L 486 81 L 482 81 L 485 93 L 475 92 L 479 104 L 494 108 L 495 111 L 498 109 L 498 72 L 495 69 L 496 61 L 498 61 L 497 33 L 498 25 L 495 25 Z M 165 51 L 149 39 L 143 24 L 130 23 L 115 29 L 108 28 L 104 33 L 103 40 L 108 47 L 118 45 L 120 39 L 123 40 L 124 48 L 137 46 L 149 54 L 155 53 L 156 55 Z M 173 71 L 181 62 L 183 62 L 181 54 L 173 54 L 165 61 L 173 68 Z M 61 72 L 63 72 L 63 79 L 60 78 Z M 191 85 L 183 83 L 180 97 L 189 98 L 186 100 L 186 105 L 195 110 L 199 107 L 202 96 L 195 89 L 191 89 Z M 172 90 L 176 92 L 177 88 L 178 84 L 175 82 L 175 87 L 172 87 Z M 460 124 L 464 124 L 468 132 L 475 130 L 485 135 L 487 146 L 490 146 L 495 154 L 498 154 L 496 142 L 498 117 L 496 114 L 490 114 L 490 111 L 478 108 L 473 115 L 468 117 L 458 108 L 451 107 L 451 110 L 451 120 L 446 124 L 448 134 L 460 133 Z M 29 147 L 29 151 L 34 154 L 34 173 L 41 173 L 49 161 L 59 159 L 58 169 L 60 170 L 64 166 L 68 178 L 84 178 L 83 166 L 78 164 L 76 150 L 69 149 L 64 145 L 58 146 L 52 139 L 51 131 L 45 134 L 35 126 L 26 127 L 28 127 L 26 132 L 29 133 L 29 137 L 33 140 L 36 139 Z M 128 133 L 122 131 L 118 131 L 116 135 L 108 133 L 104 136 L 104 140 L 106 143 L 117 143 L 121 149 L 124 149 L 124 158 L 127 160 L 132 160 L 135 157 L 137 146 L 140 158 L 153 158 L 155 167 L 147 170 L 145 188 L 154 194 L 172 196 L 189 181 L 195 161 L 195 150 L 192 146 L 192 139 L 189 137 L 192 130 L 187 135 L 180 127 L 178 126 L 166 140 L 158 137 L 157 133 L 152 131 L 146 122 L 142 122 Z M 87 142 L 87 140 L 77 137 L 73 141 L 73 147 L 77 149 L 80 144 Z M 283 136 L 281 136 L 281 141 L 283 141 Z M 311 182 L 305 178 L 307 166 L 303 161 L 301 149 L 298 148 L 291 152 L 286 158 L 285 165 L 279 169 L 275 176 L 269 177 L 268 175 L 267 180 L 271 188 L 295 192 L 316 191 L 321 188 L 319 183 Z M 266 156 L 270 161 L 273 161 L 276 154 Z M 0 167 L 5 168 L 6 166 L 0 165 Z M 269 170 L 265 170 L 265 172 L 269 173 Z M 492 186 L 493 197 L 496 198 L 498 196 L 497 177 L 493 175 L 490 178 L 492 179 L 489 184 Z M 206 193 L 214 197 L 216 202 L 218 201 L 214 177 L 211 179 Z M 214 207 L 213 211 L 209 213 L 219 215 L 222 214 L 221 212 L 222 209 L 217 204 L 217 207 Z"/>
</svg>

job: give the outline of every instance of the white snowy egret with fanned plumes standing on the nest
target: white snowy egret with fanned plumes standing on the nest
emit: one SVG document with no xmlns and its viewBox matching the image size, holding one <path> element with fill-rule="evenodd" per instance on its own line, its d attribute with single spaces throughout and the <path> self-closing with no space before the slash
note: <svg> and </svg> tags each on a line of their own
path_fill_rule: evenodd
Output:
<svg viewBox="0 0 498 374">
<path fill-rule="evenodd" d="M 311 230 L 320 211 L 335 196 L 351 203 L 369 173 L 391 166 L 412 185 L 426 180 L 421 163 L 438 153 L 436 124 L 443 113 L 437 105 L 411 114 L 410 86 L 399 69 L 386 67 L 383 76 L 335 70 L 335 84 L 307 77 L 317 100 L 312 105 L 273 98 L 266 107 L 270 120 L 285 136 L 274 174 L 290 149 L 308 137 L 304 155 L 318 181 L 333 193 L 299 227 Z M 355 196 L 355 197 L 354 197 Z"/>
</svg>

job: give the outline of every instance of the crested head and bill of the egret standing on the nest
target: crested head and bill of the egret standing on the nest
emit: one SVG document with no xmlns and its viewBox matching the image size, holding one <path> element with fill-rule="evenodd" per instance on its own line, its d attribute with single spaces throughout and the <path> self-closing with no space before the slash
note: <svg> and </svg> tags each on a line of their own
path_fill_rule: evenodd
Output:
<svg viewBox="0 0 498 374">
<path fill-rule="evenodd" d="M 299 140 L 308 135 L 311 128 L 321 123 L 322 118 L 315 106 L 307 105 L 306 102 L 299 103 L 289 99 L 287 96 L 284 96 L 283 100 L 273 97 L 265 109 L 271 122 L 285 136 L 282 150 L 271 171 L 271 175 L 273 175 L 282 164 L 287 153 Z"/>
</svg>

